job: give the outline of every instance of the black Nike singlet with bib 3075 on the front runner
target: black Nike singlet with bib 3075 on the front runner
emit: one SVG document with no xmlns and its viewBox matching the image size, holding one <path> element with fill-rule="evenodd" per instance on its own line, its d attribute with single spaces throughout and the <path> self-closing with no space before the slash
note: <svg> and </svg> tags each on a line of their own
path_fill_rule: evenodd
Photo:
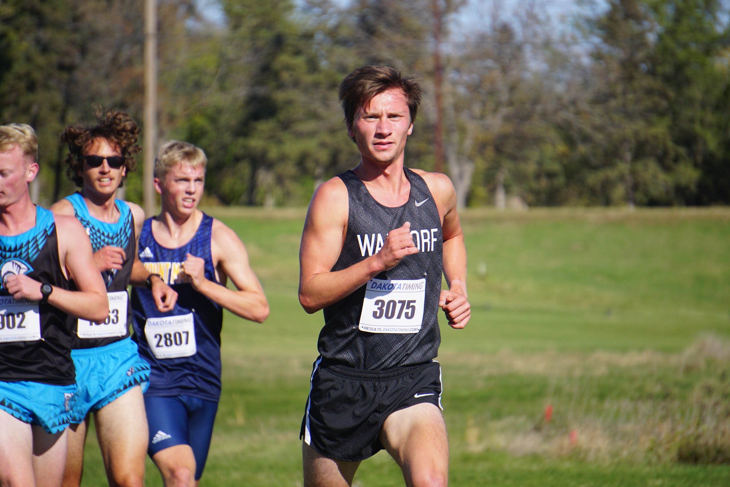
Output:
<svg viewBox="0 0 730 487">
<path fill-rule="evenodd" d="M 385 370 L 423 364 L 437 356 L 441 343 L 441 220 L 426 181 L 410 169 L 404 170 L 411 185 L 410 197 L 396 208 L 376 202 L 354 172 L 339 175 L 347 186 L 350 207 L 345 243 L 333 272 L 377 253 L 388 232 L 407 221 L 420 251 L 324 309 L 318 349 L 332 363 Z"/>
</svg>

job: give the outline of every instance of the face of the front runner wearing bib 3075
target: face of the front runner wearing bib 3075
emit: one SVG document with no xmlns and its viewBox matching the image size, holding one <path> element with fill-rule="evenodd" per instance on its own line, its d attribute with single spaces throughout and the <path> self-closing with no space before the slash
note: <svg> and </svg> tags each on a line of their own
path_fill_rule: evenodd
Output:
<svg viewBox="0 0 730 487">
<path fill-rule="evenodd" d="M 406 96 L 392 89 L 375 96 L 369 106 L 358 108 L 348 133 L 355 137 L 363 158 L 391 164 L 403 153 L 412 131 Z"/>
</svg>

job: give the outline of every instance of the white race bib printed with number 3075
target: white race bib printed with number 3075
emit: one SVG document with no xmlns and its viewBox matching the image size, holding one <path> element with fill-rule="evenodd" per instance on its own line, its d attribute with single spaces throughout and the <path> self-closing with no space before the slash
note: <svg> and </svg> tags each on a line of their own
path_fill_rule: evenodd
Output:
<svg viewBox="0 0 730 487">
<path fill-rule="evenodd" d="M 371 279 L 358 328 L 370 333 L 418 333 L 425 303 L 425 279 Z"/>
</svg>

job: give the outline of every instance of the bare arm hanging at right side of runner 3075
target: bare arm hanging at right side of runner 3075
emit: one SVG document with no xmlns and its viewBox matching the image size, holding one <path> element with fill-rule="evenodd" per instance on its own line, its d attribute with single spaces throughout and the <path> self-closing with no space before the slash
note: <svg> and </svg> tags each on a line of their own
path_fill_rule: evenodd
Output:
<svg viewBox="0 0 730 487">
<path fill-rule="evenodd" d="M 437 172 L 415 170 L 434 195 L 439 209 L 444 236 L 444 276 L 448 291 L 441 291 L 439 306 L 453 328 L 464 328 L 469 323 L 472 311 L 466 294 L 466 246 L 456 211 L 456 191 L 446 175 Z"/>
</svg>

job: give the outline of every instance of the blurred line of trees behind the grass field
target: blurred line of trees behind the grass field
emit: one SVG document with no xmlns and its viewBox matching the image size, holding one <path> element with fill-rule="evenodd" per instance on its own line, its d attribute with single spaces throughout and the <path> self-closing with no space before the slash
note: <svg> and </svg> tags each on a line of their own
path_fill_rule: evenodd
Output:
<svg viewBox="0 0 730 487">
<path fill-rule="evenodd" d="M 485 0 L 468 28 L 463 0 L 218 0 L 222 24 L 158 4 L 161 141 L 206 150 L 211 202 L 305 204 L 354 166 L 337 84 L 388 64 L 426 88 L 407 165 L 434 169 L 440 118 L 461 205 L 730 203 L 727 0 L 602 0 L 569 28 L 535 0 Z M 37 129 L 40 202 L 74 189 L 64 125 L 95 104 L 141 122 L 142 9 L 0 0 L 0 122 Z M 126 189 L 141 199 L 139 172 Z"/>
</svg>

